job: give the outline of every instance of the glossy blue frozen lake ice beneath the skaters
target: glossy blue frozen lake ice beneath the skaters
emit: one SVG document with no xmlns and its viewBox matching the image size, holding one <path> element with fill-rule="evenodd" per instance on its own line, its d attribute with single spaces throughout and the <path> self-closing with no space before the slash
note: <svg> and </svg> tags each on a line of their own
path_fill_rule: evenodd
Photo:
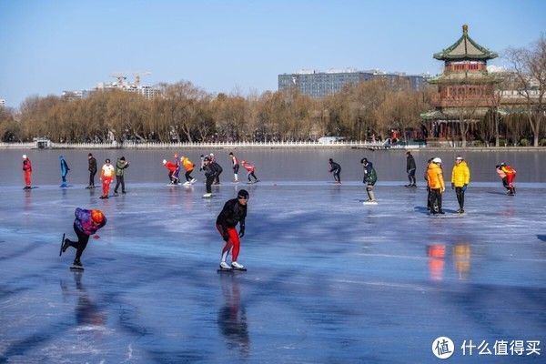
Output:
<svg viewBox="0 0 546 364">
<path fill-rule="evenodd" d="M 245 187 L 247 234 L 239 262 L 218 274 L 215 219 Z M 406 363 L 437 362 L 433 339 L 541 340 L 546 333 L 546 190 L 470 186 L 467 214 L 444 196 L 426 214 L 426 190 L 357 182 L 262 182 L 169 188 L 127 184 L 100 200 L 81 186 L 3 187 L 0 209 L 0 362 Z M 86 270 L 58 257 L 76 207 L 101 208 Z M 237 361 L 235 361 L 237 360 Z M 485 361 L 484 361 L 485 360 Z M 490 361 L 487 361 L 490 360 Z M 542 361 L 543 362 L 543 361 Z"/>
</svg>

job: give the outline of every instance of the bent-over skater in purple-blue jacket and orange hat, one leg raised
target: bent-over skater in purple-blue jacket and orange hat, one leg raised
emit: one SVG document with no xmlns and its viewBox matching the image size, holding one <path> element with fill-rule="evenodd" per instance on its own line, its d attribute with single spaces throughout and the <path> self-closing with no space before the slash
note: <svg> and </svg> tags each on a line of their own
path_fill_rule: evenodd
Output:
<svg viewBox="0 0 546 364">
<path fill-rule="evenodd" d="M 89 236 L 106 225 L 106 217 L 101 210 L 86 210 L 79 207 L 76 208 L 74 215 L 76 216 L 74 231 L 76 232 L 77 241 L 66 238 L 63 242 L 62 252 L 64 253 L 68 247 L 76 248 L 76 258 L 72 267 L 83 269 L 80 258 L 87 247 Z"/>
</svg>

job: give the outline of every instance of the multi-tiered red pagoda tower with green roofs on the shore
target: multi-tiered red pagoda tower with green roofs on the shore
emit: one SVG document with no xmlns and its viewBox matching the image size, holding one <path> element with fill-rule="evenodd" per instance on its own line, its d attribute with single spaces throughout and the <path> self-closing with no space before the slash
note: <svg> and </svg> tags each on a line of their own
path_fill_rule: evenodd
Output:
<svg viewBox="0 0 546 364">
<path fill-rule="evenodd" d="M 462 25 L 462 35 L 453 45 L 434 54 L 445 66 L 429 81 L 438 86 L 432 99 L 435 109 L 421 114 L 430 139 L 461 137 L 466 146 L 467 134 L 492 106 L 498 81 L 488 74 L 487 61 L 497 56 L 470 38 L 468 25 Z"/>
</svg>

